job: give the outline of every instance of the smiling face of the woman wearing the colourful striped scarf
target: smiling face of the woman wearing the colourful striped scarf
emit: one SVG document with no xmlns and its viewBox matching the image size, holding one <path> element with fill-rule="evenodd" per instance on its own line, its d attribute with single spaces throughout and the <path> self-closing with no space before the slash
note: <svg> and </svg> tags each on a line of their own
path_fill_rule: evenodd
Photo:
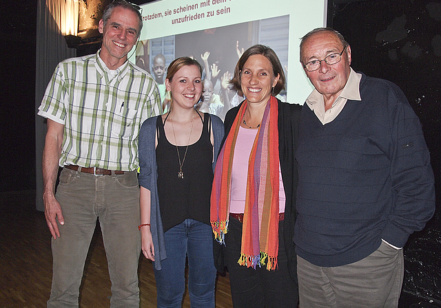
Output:
<svg viewBox="0 0 441 308">
<path fill-rule="evenodd" d="M 274 76 L 271 62 L 262 54 L 249 56 L 240 73 L 240 87 L 248 102 L 266 104 L 279 75 Z"/>
</svg>

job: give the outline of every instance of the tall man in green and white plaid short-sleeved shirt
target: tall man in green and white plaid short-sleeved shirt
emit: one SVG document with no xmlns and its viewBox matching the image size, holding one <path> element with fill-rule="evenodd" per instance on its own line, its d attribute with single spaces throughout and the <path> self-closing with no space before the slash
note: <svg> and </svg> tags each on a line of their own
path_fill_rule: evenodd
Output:
<svg viewBox="0 0 441 308">
<path fill-rule="evenodd" d="M 48 119 L 43 150 L 53 256 L 48 307 L 78 307 L 98 217 L 112 281 L 110 307 L 139 307 L 138 135 L 143 121 L 161 112 L 152 76 L 127 61 L 141 28 L 137 5 L 110 3 L 99 22 L 101 50 L 59 63 L 39 107 L 38 114 Z"/>
</svg>

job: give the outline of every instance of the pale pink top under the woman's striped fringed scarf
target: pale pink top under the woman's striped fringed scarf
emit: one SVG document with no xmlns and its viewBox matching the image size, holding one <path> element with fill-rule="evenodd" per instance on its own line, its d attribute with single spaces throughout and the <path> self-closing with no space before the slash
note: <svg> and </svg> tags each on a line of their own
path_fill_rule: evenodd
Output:
<svg viewBox="0 0 441 308">
<path fill-rule="evenodd" d="M 245 210 L 245 196 L 247 190 L 248 160 L 256 139 L 258 129 L 239 127 L 232 166 L 232 195 L 229 212 L 243 213 Z M 279 212 L 285 212 L 285 190 L 283 189 L 282 172 L 278 165 L 280 189 L 278 192 Z"/>
</svg>

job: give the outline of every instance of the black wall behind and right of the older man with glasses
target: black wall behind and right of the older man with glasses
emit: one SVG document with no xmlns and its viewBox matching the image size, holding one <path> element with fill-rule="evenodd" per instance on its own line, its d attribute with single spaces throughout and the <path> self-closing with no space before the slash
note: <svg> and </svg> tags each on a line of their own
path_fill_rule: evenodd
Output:
<svg viewBox="0 0 441 308">
<path fill-rule="evenodd" d="M 328 9 L 328 25 L 351 45 L 351 67 L 396 83 L 420 118 L 435 174 L 437 212 L 404 248 L 402 307 L 409 307 L 404 305 L 409 297 L 426 303 L 412 307 L 441 307 L 441 1 L 334 0 Z"/>
</svg>

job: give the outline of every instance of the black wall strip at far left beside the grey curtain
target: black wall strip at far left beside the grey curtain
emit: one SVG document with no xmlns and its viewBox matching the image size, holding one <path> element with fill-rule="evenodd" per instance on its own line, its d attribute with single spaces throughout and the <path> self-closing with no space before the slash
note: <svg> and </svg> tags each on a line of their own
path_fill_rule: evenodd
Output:
<svg viewBox="0 0 441 308">
<path fill-rule="evenodd" d="M 37 2 L 2 1 L 0 192 L 35 189 Z"/>
</svg>

